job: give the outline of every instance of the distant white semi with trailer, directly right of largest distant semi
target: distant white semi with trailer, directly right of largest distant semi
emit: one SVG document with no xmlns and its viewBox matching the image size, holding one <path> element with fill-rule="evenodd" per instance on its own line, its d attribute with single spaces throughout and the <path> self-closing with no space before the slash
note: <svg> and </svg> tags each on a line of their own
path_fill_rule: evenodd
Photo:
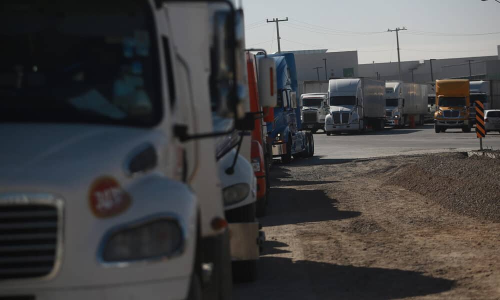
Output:
<svg viewBox="0 0 500 300">
<path fill-rule="evenodd" d="M 404 126 L 410 118 L 423 125 L 427 108 L 427 86 L 425 84 L 385 81 L 385 124 Z"/>
</svg>

